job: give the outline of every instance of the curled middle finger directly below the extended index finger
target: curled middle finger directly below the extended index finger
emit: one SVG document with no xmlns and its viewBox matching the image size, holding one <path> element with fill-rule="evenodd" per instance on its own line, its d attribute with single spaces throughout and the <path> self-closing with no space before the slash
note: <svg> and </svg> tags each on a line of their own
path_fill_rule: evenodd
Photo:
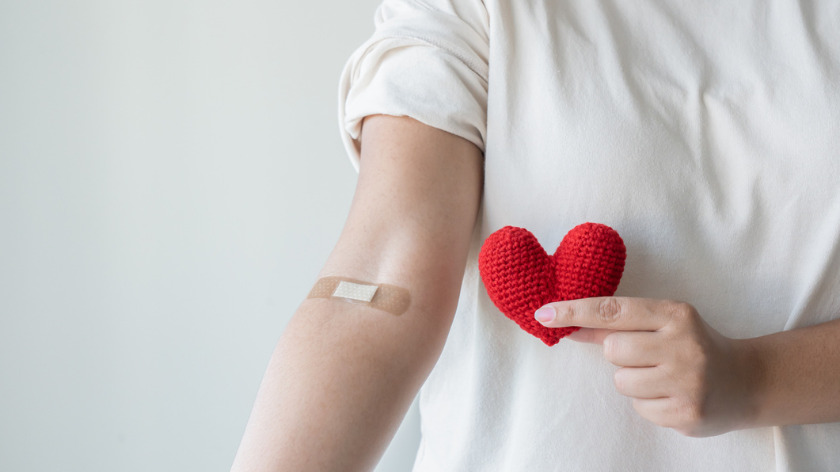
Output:
<svg viewBox="0 0 840 472">
<path fill-rule="evenodd" d="M 619 367 L 658 366 L 666 358 L 662 338 L 658 331 L 614 331 L 604 338 L 604 358 Z"/>
</svg>

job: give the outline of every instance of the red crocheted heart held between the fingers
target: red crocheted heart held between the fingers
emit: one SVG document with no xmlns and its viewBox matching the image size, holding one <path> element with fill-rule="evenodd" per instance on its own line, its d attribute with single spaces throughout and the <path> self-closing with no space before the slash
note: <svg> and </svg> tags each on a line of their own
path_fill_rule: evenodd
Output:
<svg viewBox="0 0 840 472">
<path fill-rule="evenodd" d="M 625 257 L 624 241 L 606 225 L 574 227 L 551 256 L 528 230 L 506 226 L 484 241 L 478 269 L 496 307 L 553 346 L 580 328 L 546 328 L 534 312 L 551 302 L 614 294 Z"/>
</svg>

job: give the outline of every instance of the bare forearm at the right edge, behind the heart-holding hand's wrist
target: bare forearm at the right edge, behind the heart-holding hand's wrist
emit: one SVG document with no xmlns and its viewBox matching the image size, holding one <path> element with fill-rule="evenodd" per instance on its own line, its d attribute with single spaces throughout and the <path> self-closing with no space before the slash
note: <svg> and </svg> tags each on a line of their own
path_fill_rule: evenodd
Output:
<svg viewBox="0 0 840 472">
<path fill-rule="evenodd" d="M 750 427 L 840 421 L 840 320 L 742 342 L 754 366 Z"/>
</svg>

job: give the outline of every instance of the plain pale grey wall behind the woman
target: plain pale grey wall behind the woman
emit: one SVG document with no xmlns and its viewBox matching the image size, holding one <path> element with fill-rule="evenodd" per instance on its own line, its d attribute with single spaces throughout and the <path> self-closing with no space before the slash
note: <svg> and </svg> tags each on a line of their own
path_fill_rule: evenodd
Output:
<svg viewBox="0 0 840 472">
<path fill-rule="evenodd" d="M 349 208 L 377 4 L 0 0 L 0 470 L 230 467 Z"/>
</svg>

